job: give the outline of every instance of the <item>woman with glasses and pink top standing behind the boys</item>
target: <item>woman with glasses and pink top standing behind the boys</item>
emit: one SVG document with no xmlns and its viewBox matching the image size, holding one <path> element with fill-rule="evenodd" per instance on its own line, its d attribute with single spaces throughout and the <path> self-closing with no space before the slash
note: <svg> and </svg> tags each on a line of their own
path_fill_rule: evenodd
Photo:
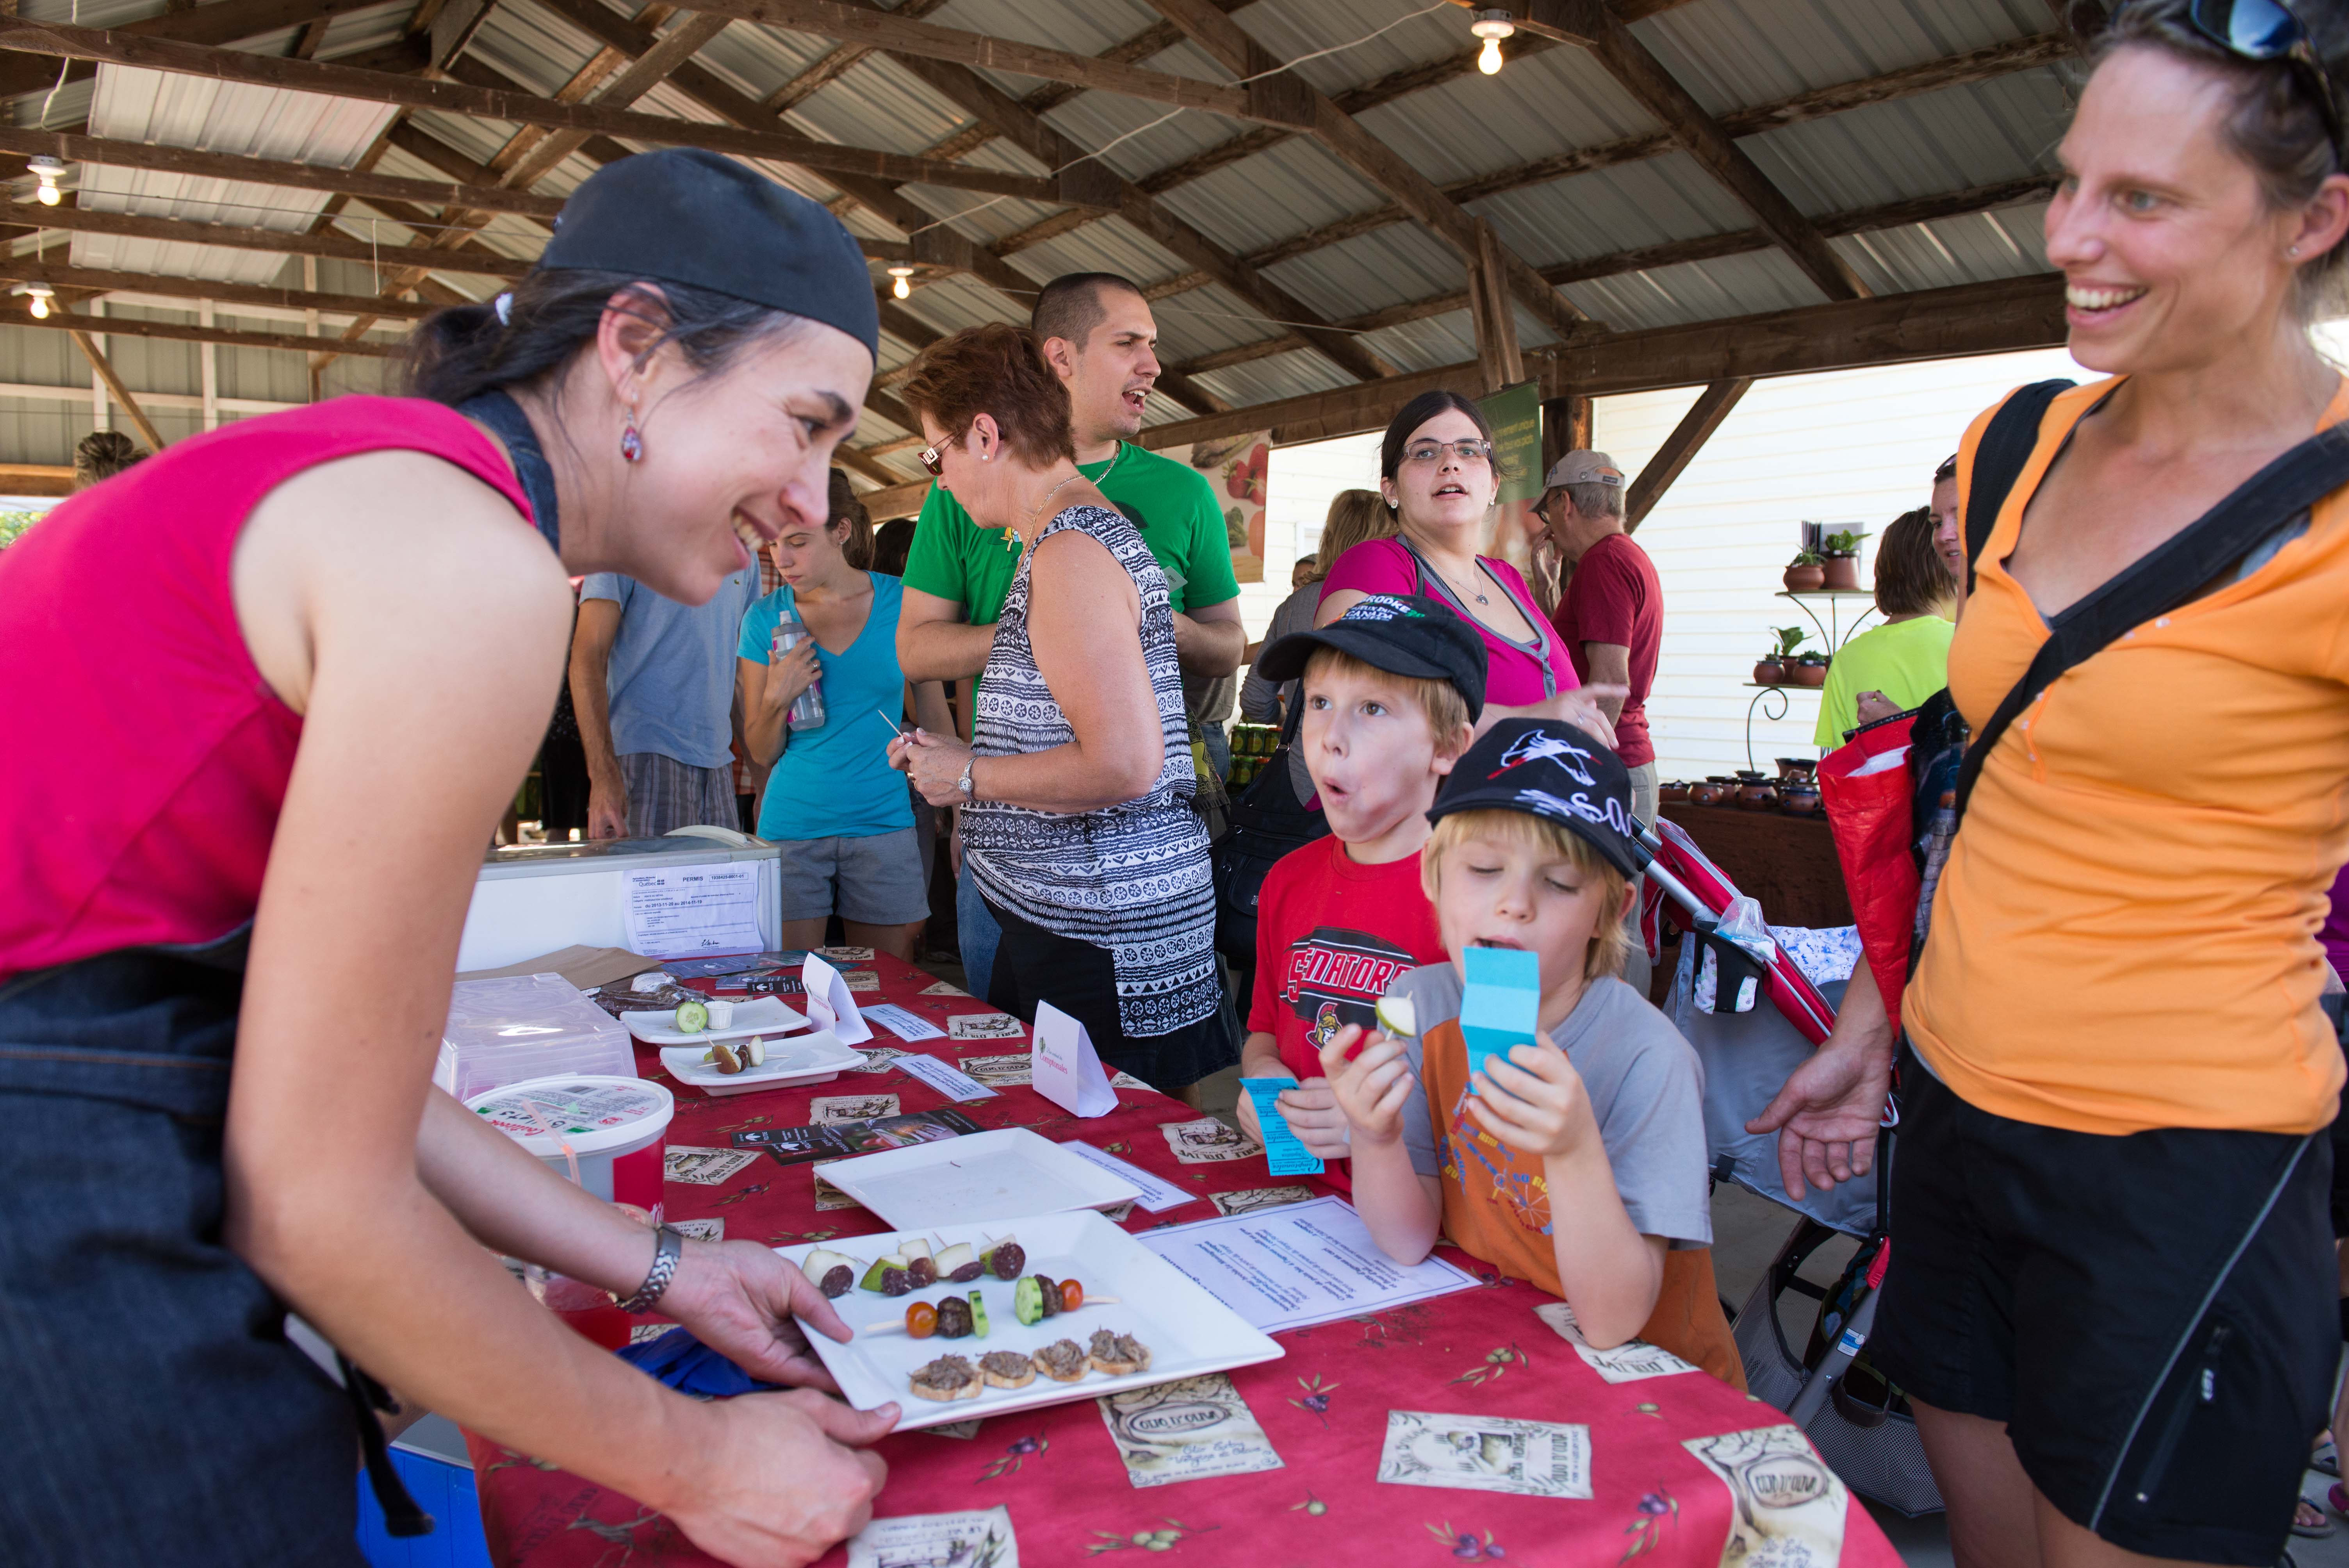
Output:
<svg viewBox="0 0 2349 1568">
<path fill-rule="evenodd" d="M 1564 643 L 1534 603 L 1515 566 L 1480 556 L 1501 493 L 1492 425 L 1459 392 L 1421 392 L 1388 423 L 1379 444 L 1379 493 L 1400 530 L 1355 545 L 1322 577 L 1315 627 L 1372 594 L 1442 599 L 1485 638 L 1485 714 L 1478 735 L 1501 718 L 1567 718 L 1611 742 L 1614 725 L 1574 676 Z"/>
</svg>

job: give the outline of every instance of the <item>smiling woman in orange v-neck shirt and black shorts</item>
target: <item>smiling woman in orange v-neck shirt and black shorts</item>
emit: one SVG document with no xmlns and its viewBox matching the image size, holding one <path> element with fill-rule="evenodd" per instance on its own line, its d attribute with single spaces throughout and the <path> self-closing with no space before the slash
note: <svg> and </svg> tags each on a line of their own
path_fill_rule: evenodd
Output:
<svg viewBox="0 0 2349 1568">
<path fill-rule="evenodd" d="M 2131 0 L 2098 40 L 2046 251 L 2107 380 L 2039 420 L 1950 646 L 1978 739 L 2022 707 L 1900 1002 L 1867 1359 L 1968 1568 L 2279 1561 L 2342 1352 L 2318 927 L 2349 857 L 2349 493 L 2248 507 L 2215 570 L 2154 559 L 2349 415 L 2309 340 L 2349 232 L 2349 16 L 2295 9 Z M 2100 608 L 2154 573 L 2178 608 Z M 2098 622 L 2100 650 L 2025 678 Z M 1785 1122 L 1790 1188 L 1865 1174 L 1891 1056 L 1863 965 L 1755 1124 Z"/>
</svg>

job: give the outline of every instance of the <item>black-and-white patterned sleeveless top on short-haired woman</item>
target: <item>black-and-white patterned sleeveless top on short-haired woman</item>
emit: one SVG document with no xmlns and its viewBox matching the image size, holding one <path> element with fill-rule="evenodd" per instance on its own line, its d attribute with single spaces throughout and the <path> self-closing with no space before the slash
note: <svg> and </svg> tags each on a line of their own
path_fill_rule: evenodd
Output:
<svg viewBox="0 0 2349 1568">
<path fill-rule="evenodd" d="M 965 805 L 963 854 L 980 887 L 1003 908 L 1059 937 L 1109 948 L 1125 1035 L 1165 1035 L 1217 1007 L 1214 887 L 1207 829 L 1191 810 L 1191 735 L 1167 582 L 1120 514 L 1069 507 L 1019 554 L 980 676 L 972 749 L 1027 756 L 1076 739 L 1029 646 L 1029 568 L 1036 547 L 1066 530 L 1097 540 L 1142 592 L 1142 657 L 1165 758 L 1149 793 L 1097 812 L 1038 812 L 1003 800 Z"/>
</svg>

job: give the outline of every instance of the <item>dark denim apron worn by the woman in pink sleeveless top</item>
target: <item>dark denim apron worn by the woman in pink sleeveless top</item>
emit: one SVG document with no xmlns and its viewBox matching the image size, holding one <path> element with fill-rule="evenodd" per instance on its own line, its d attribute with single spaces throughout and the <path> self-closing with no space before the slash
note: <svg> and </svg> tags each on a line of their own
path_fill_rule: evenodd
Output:
<svg viewBox="0 0 2349 1568">
<path fill-rule="evenodd" d="M 552 542 L 552 472 L 521 408 L 491 392 L 460 413 L 505 439 Z M 362 1446 L 392 1533 L 432 1528 L 381 1425 L 357 1420 L 381 1390 L 348 1361 L 336 1387 L 221 1239 L 247 937 L 0 981 L 12 1568 L 357 1568 Z"/>
</svg>

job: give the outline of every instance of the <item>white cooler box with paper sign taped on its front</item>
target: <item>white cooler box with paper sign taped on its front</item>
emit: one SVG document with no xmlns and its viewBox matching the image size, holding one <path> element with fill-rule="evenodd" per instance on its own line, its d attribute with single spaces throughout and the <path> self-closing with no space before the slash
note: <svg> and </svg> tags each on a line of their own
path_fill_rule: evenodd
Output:
<svg viewBox="0 0 2349 1568">
<path fill-rule="evenodd" d="M 472 885 L 456 972 L 503 969 L 568 946 L 625 948 L 622 873 L 667 866 L 759 864 L 759 941 L 782 946 L 780 845 L 731 829 L 679 829 L 667 838 L 491 850 Z M 648 955 L 658 958 L 658 955 Z"/>
</svg>

